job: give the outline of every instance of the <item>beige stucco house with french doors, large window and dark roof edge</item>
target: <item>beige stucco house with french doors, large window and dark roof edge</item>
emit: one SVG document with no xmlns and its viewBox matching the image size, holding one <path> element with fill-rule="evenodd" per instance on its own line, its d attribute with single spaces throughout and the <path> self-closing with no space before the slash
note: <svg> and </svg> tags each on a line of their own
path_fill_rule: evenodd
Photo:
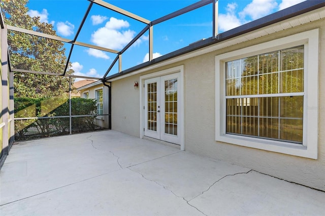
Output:
<svg viewBox="0 0 325 216">
<path fill-rule="evenodd" d="M 324 17 L 306 1 L 108 77 L 112 129 L 325 191 Z"/>
</svg>

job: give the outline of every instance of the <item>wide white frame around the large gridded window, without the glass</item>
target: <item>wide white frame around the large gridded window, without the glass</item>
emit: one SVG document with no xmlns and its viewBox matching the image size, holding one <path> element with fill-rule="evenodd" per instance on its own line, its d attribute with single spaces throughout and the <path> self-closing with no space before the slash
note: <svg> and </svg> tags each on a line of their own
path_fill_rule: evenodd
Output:
<svg viewBox="0 0 325 216">
<path fill-rule="evenodd" d="M 303 143 L 226 134 L 225 62 L 304 45 Z M 215 140 L 288 155 L 317 159 L 318 148 L 318 50 L 319 29 L 223 53 L 215 57 Z M 315 52 L 317 50 L 317 52 Z M 317 85 L 316 85 L 317 84 Z"/>
</svg>

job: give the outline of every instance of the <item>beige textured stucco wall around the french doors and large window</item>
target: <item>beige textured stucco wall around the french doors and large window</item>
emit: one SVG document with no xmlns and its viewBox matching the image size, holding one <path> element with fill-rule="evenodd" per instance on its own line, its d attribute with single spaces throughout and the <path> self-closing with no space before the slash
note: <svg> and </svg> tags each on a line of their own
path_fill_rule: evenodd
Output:
<svg viewBox="0 0 325 216">
<path fill-rule="evenodd" d="M 319 28 L 318 159 L 308 159 L 215 141 L 215 56 Z M 146 71 L 184 65 L 185 150 L 325 191 L 325 20 L 300 25 L 235 46 Z M 140 75 L 112 83 L 112 129 L 140 136 Z"/>
</svg>

